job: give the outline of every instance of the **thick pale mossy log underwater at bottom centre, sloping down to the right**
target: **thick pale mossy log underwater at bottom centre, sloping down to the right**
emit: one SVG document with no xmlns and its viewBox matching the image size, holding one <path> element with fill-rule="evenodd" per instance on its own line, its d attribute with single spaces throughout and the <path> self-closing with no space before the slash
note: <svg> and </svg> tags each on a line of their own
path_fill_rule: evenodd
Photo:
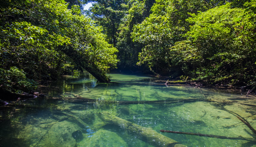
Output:
<svg viewBox="0 0 256 147">
<path fill-rule="evenodd" d="M 168 138 L 150 128 L 141 127 L 138 124 L 121 119 L 107 112 L 100 112 L 98 115 L 103 121 L 134 133 L 138 135 L 139 139 L 154 146 L 186 147 L 185 145 L 179 144 L 177 141 Z"/>
</svg>

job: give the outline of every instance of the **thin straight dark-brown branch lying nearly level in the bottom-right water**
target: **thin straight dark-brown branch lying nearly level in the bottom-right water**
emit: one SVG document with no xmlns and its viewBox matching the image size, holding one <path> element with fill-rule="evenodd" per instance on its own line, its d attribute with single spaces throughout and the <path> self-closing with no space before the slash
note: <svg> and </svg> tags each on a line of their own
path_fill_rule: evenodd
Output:
<svg viewBox="0 0 256 147">
<path fill-rule="evenodd" d="M 178 132 L 178 131 L 168 131 L 168 130 L 160 130 L 160 132 L 168 132 L 168 133 L 176 133 L 176 134 L 186 134 L 186 135 L 196 135 L 196 136 L 205 136 L 205 137 L 219 138 L 219 139 L 256 141 L 255 138 L 245 138 L 245 137 L 242 137 L 242 136 L 239 136 L 239 137 L 226 137 L 226 136 L 218 136 L 218 135 L 210 135 L 210 134 L 191 133 L 191 132 Z"/>
</svg>

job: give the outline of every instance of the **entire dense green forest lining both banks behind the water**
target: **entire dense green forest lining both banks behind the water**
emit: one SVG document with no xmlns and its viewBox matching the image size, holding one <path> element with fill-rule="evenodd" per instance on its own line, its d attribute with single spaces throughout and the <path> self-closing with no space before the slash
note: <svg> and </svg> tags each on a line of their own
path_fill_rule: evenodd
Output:
<svg viewBox="0 0 256 147">
<path fill-rule="evenodd" d="M 110 82 L 110 68 L 256 85 L 256 0 L 3 0 L 0 8 L 1 90 L 80 71 Z"/>
</svg>

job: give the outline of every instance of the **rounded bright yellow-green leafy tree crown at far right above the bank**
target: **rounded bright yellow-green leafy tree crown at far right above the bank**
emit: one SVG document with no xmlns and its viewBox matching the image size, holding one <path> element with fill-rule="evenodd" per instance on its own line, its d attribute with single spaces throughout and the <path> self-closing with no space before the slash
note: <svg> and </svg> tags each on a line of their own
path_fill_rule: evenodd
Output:
<svg viewBox="0 0 256 147">
<path fill-rule="evenodd" d="M 255 11 L 230 5 L 191 14 L 187 20 L 194 24 L 185 34 L 187 40 L 171 47 L 187 75 L 209 84 L 255 81 Z M 189 50 L 193 54 L 183 54 Z"/>
</svg>

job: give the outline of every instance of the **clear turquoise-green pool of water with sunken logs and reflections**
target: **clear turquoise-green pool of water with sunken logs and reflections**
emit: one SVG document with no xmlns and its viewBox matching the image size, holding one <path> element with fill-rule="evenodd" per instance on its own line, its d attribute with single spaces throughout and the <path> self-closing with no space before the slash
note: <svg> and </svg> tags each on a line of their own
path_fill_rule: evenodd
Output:
<svg viewBox="0 0 256 147">
<path fill-rule="evenodd" d="M 0 146 L 54 147 L 251 147 L 255 137 L 236 116 L 256 128 L 251 97 L 209 89 L 154 83 L 146 76 L 110 74 L 111 84 L 90 74 L 63 76 L 40 91 L 47 98 L 24 100 L 1 111 Z M 249 106 L 248 104 L 251 104 Z"/>
</svg>

